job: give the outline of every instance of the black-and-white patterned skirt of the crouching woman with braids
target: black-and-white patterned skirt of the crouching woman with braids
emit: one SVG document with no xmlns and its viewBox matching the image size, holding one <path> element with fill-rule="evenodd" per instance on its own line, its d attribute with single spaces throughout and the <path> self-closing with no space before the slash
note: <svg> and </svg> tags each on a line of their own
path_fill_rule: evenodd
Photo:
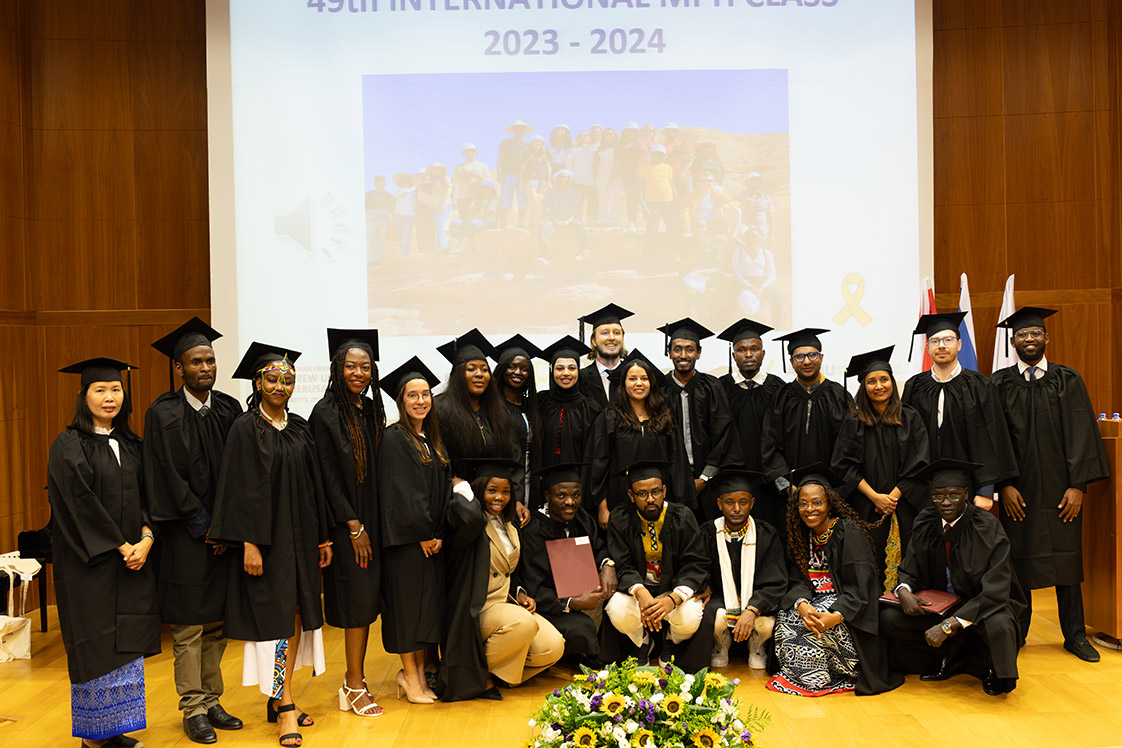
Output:
<svg viewBox="0 0 1122 748">
<path fill-rule="evenodd" d="M 837 593 L 830 591 L 816 594 L 810 602 L 818 610 L 829 610 L 837 599 Z M 845 622 L 827 629 L 819 639 L 803 626 L 798 611 L 788 608 L 775 617 L 774 637 L 780 669 L 767 682 L 770 690 L 799 696 L 825 696 L 853 691 L 856 686 L 857 649 Z"/>
</svg>

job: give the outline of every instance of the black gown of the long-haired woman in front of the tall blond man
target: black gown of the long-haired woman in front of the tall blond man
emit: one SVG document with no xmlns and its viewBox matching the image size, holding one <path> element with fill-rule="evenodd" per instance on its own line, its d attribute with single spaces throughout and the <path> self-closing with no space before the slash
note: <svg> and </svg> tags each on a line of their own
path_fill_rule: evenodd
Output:
<svg viewBox="0 0 1122 748">
<path fill-rule="evenodd" d="M 614 408 L 600 410 L 592 424 L 592 437 L 585 447 L 585 462 L 589 467 L 588 480 L 583 484 L 590 490 L 581 508 L 595 516 L 597 507 L 604 499 L 608 500 L 610 510 L 631 504 L 631 499 L 627 498 L 627 479 L 617 473 L 642 460 L 672 463 L 665 478 L 668 498 L 691 509 L 697 507 L 697 491 L 689 480 L 689 468 L 675 446 L 675 438 L 673 432 L 655 434 L 645 426 L 642 431 L 620 428 L 616 425 Z M 687 482 L 689 482 L 688 490 Z"/>
</svg>

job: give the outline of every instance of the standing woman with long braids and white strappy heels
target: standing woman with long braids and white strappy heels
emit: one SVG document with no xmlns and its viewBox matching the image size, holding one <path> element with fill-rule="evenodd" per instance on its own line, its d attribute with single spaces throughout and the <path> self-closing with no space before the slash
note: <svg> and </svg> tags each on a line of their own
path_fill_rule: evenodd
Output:
<svg viewBox="0 0 1122 748">
<path fill-rule="evenodd" d="M 386 428 L 378 393 L 378 331 L 328 329 L 331 373 L 309 424 L 339 551 L 323 573 L 323 613 L 346 629 L 347 673 L 339 709 L 378 717 L 383 709 L 367 691 L 364 663 L 370 624 L 381 611 L 381 544 L 378 533 L 377 450 Z"/>
</svg>

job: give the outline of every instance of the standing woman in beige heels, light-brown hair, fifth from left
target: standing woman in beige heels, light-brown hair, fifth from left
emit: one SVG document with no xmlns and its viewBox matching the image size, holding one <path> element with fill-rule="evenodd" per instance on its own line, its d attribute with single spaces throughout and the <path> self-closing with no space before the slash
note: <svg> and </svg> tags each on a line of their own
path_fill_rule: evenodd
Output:
<svg viewBox="0 0 1122 748">
<path fill-rule="evenodd" d="M 441 551 L 452 474 L 432 407 L 432 387 L 439 381 L 416 357 L 381 381 L 398 413 L 378 451 L 386 602 L 381 646 L 402 659 L 397 698 L 404 693 L 420 704 L 436 698 L 425 683 L 425 650 L 443 644 L 447 620 L 448 554 Z"/>
</svg>

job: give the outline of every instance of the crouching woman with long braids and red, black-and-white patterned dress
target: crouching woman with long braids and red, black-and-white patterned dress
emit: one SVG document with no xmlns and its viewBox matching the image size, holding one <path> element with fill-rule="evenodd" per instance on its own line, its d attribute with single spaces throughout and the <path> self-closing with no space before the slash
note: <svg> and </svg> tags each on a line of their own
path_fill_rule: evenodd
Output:
<svg viewBox="0 0 1122 748">
<path fill-rule="evenodd" d="M 903 676 L 888 669 L 877 638 L 881 597 L 872 526 L 833 486 L 842 481 L 816 463 L 791 477 L 788 504 L 787 597 L 775 618 L 776 672 L 767 687 L 822 696 L 891 691 Z"/>
</svg>

